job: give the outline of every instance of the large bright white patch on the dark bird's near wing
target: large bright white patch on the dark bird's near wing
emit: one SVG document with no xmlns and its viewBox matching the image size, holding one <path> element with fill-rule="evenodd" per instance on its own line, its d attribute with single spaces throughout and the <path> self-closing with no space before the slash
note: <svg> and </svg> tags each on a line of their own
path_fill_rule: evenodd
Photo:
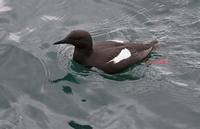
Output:
<svg viewBox="0 0 200 129">
<path fill-rule="evenodd" d="M 129 58 L 129 57 L 131 57 L 131 52 L 127 48 L 124 48 L 121 50 L 121 52 L 115 58 L 113 58 L 109 62 L 114 62 L 116 64 L 124 59 Z"/>
</svg>

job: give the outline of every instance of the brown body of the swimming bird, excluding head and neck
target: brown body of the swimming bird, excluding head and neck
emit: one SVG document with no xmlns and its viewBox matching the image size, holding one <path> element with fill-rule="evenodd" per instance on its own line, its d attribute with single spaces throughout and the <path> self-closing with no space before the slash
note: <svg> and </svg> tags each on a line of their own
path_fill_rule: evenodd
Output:
<svg viewBox="0 0 200 129">
<path fill-rule="evenodd" d="M 85 65 L 97 67 L 107 73 L 117 73 L 145 59 L 155 45 L 156 42 L 148 44 L 99 42 L 94 44 L 93 53 L 87 58 Z"/>
</svg>

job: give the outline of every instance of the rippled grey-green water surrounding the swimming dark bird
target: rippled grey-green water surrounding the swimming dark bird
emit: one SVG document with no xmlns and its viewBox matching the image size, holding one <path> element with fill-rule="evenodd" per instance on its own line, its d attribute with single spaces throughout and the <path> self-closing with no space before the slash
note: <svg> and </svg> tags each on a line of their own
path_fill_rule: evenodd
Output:
<svg viewBox="0 0 200 129">
<path fill-rule="evenodd" d="M 88 70 L 52 46 L 77 28 L 169 63 Z M 0 129 L 200 128 L 199 0 L 0 0 L 0 40 Z"/>
</svg>

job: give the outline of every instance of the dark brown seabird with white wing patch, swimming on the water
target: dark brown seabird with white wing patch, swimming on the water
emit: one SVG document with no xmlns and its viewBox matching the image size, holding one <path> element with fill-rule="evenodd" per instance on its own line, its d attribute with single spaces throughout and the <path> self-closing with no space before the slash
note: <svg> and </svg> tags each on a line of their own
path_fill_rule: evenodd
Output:
<svg viewBox="0 0 200 129">
<path fill-rule="evenodd" d="M 54 45 L 58 44 L 74 45 L 73 60 L 77 63 L 89 68 L 96 67 L 108 74 L 115 74 L 147 58 L 158 41 L 153 40 L 146 44 L 116 41 L 93 43 L 89 32 L 74 30 L 64 39 L 54 43 Z"/>
</svg>

